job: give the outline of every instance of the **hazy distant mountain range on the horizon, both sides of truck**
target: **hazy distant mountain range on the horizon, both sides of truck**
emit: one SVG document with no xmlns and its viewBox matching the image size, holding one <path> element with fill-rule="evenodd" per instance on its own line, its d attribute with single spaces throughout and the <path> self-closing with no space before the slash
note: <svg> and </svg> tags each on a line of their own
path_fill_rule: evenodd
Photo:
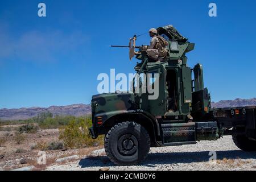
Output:
<svg viewBox="0 0 256 182">
<path fill-rule="evenodd" d="M 251 99 L 241 99 L 228 101 L 212 102 L 213 107 L 236 107 L 236 106 L 256 106 L 256 98 Z M 20 109 L 0 109 L 0 119 L 1 120 L 18 120 L 18 119 L 28 119 L 35 117 L 39 113 L 49 111 L 53 115 L 74 115 L 76 117 L 90 114 L 90 105 L 85 104 L 74 104 L 68 106 L 50 106 L 44 107 L 30 107 L 30 108 L 20 108 Z"/>
</svg>

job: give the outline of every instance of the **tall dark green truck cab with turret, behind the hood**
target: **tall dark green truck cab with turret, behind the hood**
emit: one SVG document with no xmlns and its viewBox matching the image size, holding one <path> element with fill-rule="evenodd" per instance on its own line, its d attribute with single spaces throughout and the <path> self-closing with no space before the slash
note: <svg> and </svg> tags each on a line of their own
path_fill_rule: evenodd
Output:
<svg viewBox="0 0 256 182">
<path fill-rule="evenodd" d="M 152 77 L 155 73 L 159 75 L 158 98 L 147 100 L 149 93 L 140 93 L 140 109 L 164 119 L 184 120 L 188 114 L 201 118 L 210 110 L 210 96 L 203 84 L 203 68 L 197 64 L 191 69 L 185 56 L 194 49 L 195 44 L 188 42 L 188 39 L 181 36 L 173 26 L 159 27 L 158 33 L 169 43 L 166 47 L 168 56 L 165 61 L 155 63 L 154 60 L 150 60 L 143 47 L 136 56 L 142 60 L 140 69 L 137 69 L 138 74 L 150 73 Z"/>
</svg>

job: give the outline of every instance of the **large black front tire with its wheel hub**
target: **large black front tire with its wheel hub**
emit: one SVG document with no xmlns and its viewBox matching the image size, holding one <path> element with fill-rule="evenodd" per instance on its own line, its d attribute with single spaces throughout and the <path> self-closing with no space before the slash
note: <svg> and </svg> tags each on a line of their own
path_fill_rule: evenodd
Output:
<svg viewBox="0 0 256 182">
<path fill-rule="evenodd" d="M 105 151 L 118 166 L 135 165 L 144 160 L 150 150 L 150 137 L 143 126 L 135 122 L 118 123 L 105 137 Z"/>
</svg>

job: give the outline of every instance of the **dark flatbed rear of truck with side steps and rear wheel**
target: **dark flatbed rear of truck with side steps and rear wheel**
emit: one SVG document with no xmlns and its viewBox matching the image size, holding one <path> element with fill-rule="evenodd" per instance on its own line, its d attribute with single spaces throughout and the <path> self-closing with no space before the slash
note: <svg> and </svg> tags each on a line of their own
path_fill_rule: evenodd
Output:
<svg viewBox="0 0 256 182">
<path fill-rule="evenodd" d="M 242 150 L 256 150 L 256 106 L 213 108 L 204 117 L 200 115 L 199 118 L 187 121 L 157 121 L 160 137 L 156 138 L 156 147 L 195 144 L 200 140 L 217 140 L 225 135 L 232 135 L 234 142 Z M 237 141 L 237 138 L 241 139 Z M 253 147 L 242 146 L 241 143 L 248 143 L 247 139 L 253 141 Z"/>
</svg>

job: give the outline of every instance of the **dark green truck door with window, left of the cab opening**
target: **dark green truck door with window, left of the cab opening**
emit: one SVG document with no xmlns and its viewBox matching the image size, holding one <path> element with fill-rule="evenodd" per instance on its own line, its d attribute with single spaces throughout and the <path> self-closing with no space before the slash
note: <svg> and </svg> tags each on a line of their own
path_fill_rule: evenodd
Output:
<svg viewBox="0 0 256 182">
<path fill-rule="evenodd" d="M 160 65 L 159 68 L 149 69 L 147 73 L 147 92 L 150 91 L 149 87 L 152 87 L 154 90 L 154 93 L 148 92 L 150 113 L 153 115 L 164 115 L 168 108 L 166 69 Z M 158 75 L 156 75 L 156 73 Z"/>
</svg>

